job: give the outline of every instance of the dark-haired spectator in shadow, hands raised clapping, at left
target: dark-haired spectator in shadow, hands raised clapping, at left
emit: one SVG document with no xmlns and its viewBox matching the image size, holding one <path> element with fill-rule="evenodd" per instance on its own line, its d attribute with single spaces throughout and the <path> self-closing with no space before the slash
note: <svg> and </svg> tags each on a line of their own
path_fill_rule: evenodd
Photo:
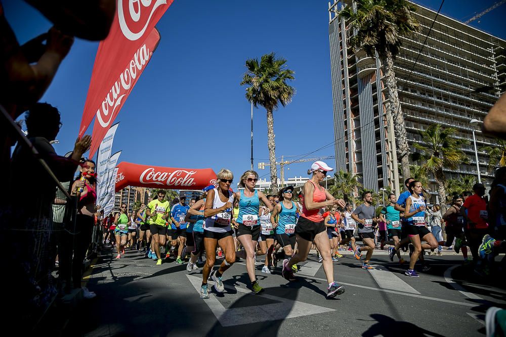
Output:
<svg viewBox="0 0 506 337">
<path fill-rule="evenodd" d="M 59 181 L 69 181 L 77 168 L 77 160 L 88 150 L 91 137 L 77 139 L 70 158 L 58 156 L 50 141 L 56 138 L 61 127 L 60 113 L 46 103 L 37 103 L 28 111 L 26 127 L 39 158 L 46 161 Z M 10 195 L 12 218 L 1 224 L 4 233 L 9 233 L 2 247 L 6 249 L 5 266 L 16 275 L 15 282 L 8 287 L 8 297 L 15 295 L 12 303 L 29 316 L 31 308 L 47 305 L 55 291 L 50 275 L 54 260 L 50 257 L 49 238 L 57 184 L 34 158 L 31 149 L 23 144 L 14 150 L 12 168 L 10 180 L 16 188 Z M 34 194 L 34 198 L 29 199 L 27 194 Z"/>
</svg>

